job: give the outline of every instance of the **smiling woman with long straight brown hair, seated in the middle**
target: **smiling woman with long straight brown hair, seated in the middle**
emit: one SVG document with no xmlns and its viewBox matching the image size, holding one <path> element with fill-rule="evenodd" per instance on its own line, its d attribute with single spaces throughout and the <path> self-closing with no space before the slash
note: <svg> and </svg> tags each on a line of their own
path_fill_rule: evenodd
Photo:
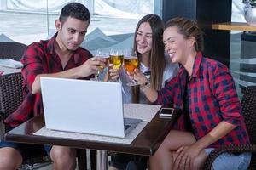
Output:
<svg viewBox="0 0 256 170">
<path fill-rule="evenodd" d="M 156 14 L 145 15 L 137 23 L 134 36 L 133 50 L 137 53 L 139 71 L 148 77 L 152 88 L 163 88 L 172 77 L 177 75 L 178 65 L 173 64 L 165 55 L 163 43 L 164 23 Z M 111 74 L 110 74 L 111 75 Z M 129 87 L 126 85 L 131 79 L 125 71 L 120 77 L 123 82 L 124 103 L 148 103 L 140 91 L 139 86 Z M 112 156 L 110 169 L 130 169 L 129 166 L 137 166 L 137 169 L 145 169 L 147 157 L 117 154 Z M 136 164 L 136 165 L 135 165 Z M 128 166 L 127 166 L 128 165 Z"/>
</svg>

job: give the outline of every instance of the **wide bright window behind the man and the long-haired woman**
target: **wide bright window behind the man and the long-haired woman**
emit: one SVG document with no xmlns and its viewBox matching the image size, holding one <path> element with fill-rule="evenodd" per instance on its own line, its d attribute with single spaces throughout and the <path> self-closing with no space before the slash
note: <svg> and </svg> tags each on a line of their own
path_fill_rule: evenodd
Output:
<svg viewBox="0 0 256 170">
<path fill-rule="evenodd" d="M 25 44 L 49 38 L 55 32 L 61 8 L 70 2 L 89 8 L 89 33 L 99 27 L 107 35 L 134 32 L 144 14 L 160 14 L 161 10 L 161 1 L 157 0 L 0 0 L 0 35 Z"/>
</svg>

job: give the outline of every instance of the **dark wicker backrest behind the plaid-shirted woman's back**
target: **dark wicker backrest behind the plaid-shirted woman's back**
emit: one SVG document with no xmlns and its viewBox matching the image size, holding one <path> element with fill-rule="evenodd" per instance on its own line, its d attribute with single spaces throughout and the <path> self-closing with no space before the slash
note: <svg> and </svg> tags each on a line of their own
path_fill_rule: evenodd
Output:
<svg viewBox="0 0 256 170">
<path fill-rule="evenodd" d="M 256 144 L 256 86 L 245 88 L 241 106 L 251 143 Z"/>
</svg>

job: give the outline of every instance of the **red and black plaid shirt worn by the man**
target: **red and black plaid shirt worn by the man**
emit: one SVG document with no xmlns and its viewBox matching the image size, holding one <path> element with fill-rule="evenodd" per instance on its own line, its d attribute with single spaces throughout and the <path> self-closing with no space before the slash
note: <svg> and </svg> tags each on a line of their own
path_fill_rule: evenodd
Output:
<svg viewBox="0 0 256 170">
<path fill-rule="evenodd" d="M 26 54 L 21 59 L 24 65 L 21 71 L 24 100 L 20 107 L 4 120 L 9 127 L 16 127 L 33 116 L 43 113 L 41 94 L 32 94 L 32 83 L 38 74 L 65 71 L 82 65 L 92 57 L 89 51 L 78 48 L 63 69 L 61 59 L 55 53 L 56 35 L 47 41 L 34 42 L 26 49 Z M 88 78 L 84 77 L 84 79 Z"/>
</svg>

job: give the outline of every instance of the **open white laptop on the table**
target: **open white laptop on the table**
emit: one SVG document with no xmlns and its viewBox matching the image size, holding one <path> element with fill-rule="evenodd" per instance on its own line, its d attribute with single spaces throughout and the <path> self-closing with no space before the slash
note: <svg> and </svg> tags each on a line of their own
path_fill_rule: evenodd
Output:
<svg viewBox="0 0 256 170">
<path fill-rule="evenodd" d="M 41 77 L 45 127 L 124 138 L 140 119 L 124 119 L 122 85 Z"/>
</svg>

